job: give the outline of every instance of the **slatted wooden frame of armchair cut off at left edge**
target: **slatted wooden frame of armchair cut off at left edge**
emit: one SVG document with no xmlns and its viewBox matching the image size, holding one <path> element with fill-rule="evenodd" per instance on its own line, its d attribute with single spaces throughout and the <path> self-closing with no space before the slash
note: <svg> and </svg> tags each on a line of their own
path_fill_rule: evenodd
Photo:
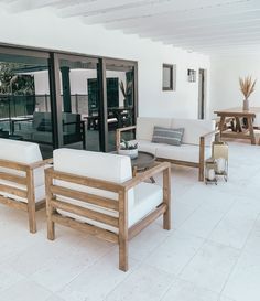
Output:
<svg viewBox="0 0 260 301">
<path fill-rule="evenodd" d="M 9 207 L 21 209 L 28 212 L 29 215 L 29 229 L 31 233 L 36 233 L 36 218 L 35 212 L 45 207 L 45 198 L 35 203 L 34 193 L 34 176 L 33 171 L 37 168 L 44 166 L 52 163 L 52 159 L 39 161 L 32 164 L 17 163 L 8 160 L 0 160 L 0 166 L 4 169 L 23 171 L 25 175 L 14 175 L 8 171 L 0 172 L 0 179 L 17 183 L 18 185 L 24 185 L 26 189 L 21 190 L 18 187 L 10 186 L 8 184 L 0 184 L 0 191 L 9 194 L 13 194 L 19 197 L 24 197 L 28 200 L 25 202 L 19 202 L 12 197 L 4 197 L 0 195 L 0 203 Z"/>
</svg>

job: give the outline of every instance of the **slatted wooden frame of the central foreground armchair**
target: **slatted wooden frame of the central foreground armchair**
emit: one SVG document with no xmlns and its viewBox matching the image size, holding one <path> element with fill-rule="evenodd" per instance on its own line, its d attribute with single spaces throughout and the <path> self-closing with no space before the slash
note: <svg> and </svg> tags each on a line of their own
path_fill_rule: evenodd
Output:
<svg viewBox="0 0 260 301">
<path fill-rule="evenodd" d="M 150 179 L 154 174 L 163 172 L 163 201 L 152 213 L 145 216 L 142 221 L 128 228 L 128 191 Z M 79 192 L 76 190 L 63 187 L 54 184 L 53 180 L 62 180 L 74 184 L 80 184 L 89 187 L 100 189 L 118 194 L 118 200 L 107 198 L 95 194 Z M 46 184 L 46 212 L 47 212 L 47 238 L 55 239 L 55 223 L 86 232 L 101 239 L 117 243 L 119 245 L 119 269 L 128 270 L 128 241 L 144 227 L 151 224 L 160 215 L 163 215 L 163 228 L 171 228 L 171 169 L 170 164 L 156 163 L 153 168 L 139 173 L 124 183 L 117 184 L 102 180 L 78 176 L 75 174 L 54 171 L 53 168 L 45 170 Z M 118 217 L 98 213 L 88 208 L 84 208 L 74 204 L 57 200 L 56 195 L 72 197 L 84 203 L 94 204 L 104 208 L 109 208 L 118 212 Z M 72 217 L 61 215 L 57 209 L 73 213 L 89 219 L 101 222 L 106 225 L 118 228 L 118 234 L 104 229 L 88 223 L 78 222 Z"/>
</svg>

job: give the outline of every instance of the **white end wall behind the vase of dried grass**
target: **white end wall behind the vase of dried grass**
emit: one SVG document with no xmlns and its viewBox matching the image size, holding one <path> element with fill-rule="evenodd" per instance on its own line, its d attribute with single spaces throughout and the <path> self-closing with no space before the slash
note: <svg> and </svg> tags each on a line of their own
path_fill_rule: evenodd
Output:
<svg viewBox="0 0 260 301">
<path fill-rule="evenodd" d="M 210 111 L 241 107 L 243 95 L 239 77 L 258 78 L 256 90 L 249 98 L 250 106 L 260 107 L 260 57 L 259 55 L 218 55 L 210 60 Z"/>
</svg>

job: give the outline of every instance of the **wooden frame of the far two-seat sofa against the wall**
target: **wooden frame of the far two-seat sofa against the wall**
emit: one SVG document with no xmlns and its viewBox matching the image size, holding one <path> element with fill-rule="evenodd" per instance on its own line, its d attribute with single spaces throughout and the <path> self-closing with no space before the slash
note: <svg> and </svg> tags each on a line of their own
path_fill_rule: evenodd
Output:
<svg viewBox="0 0 260 301">
<path fill-rule="evenodd" d="M 123 131 L 136 130 L 136 129 L 137 129 L 137 126 L 117 129 L 117 132 L 116 132 L 117 150 L 119 150 L 119 148 L 120 148 L 121 133 Z M 197 168 L 198 169 L 198 181 L 204 181 L 205 138 L 210 137 L 210 136 L 215 136 L 215 140 L 218 140 L 219 139 L 219 130 L 214 130 L 214 131 L 207 132 L 207 133 L 199 137 L 199 161 L 198 161 L 198 163 L 189 162 L 189 161 L 180 161 L 180 160 L 174 160 L 174 159 L 166 159 L 166 158 L 156 158 L 156 161 L 170 162 L 172 164 L 189 166 L 189 168 Z"/>
</svg>

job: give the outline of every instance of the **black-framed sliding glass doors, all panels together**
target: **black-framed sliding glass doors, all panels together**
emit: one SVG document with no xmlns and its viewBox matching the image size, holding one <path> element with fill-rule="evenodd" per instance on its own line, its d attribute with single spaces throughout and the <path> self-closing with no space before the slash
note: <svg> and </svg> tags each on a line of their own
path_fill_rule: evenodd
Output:
<svg viewBox="0 0 260 301">
<path fill-rule="evenodd" d="M 137 107 L 137 62 L 0 45 L 0 138 L 113 151 Z"/>
</svg>

